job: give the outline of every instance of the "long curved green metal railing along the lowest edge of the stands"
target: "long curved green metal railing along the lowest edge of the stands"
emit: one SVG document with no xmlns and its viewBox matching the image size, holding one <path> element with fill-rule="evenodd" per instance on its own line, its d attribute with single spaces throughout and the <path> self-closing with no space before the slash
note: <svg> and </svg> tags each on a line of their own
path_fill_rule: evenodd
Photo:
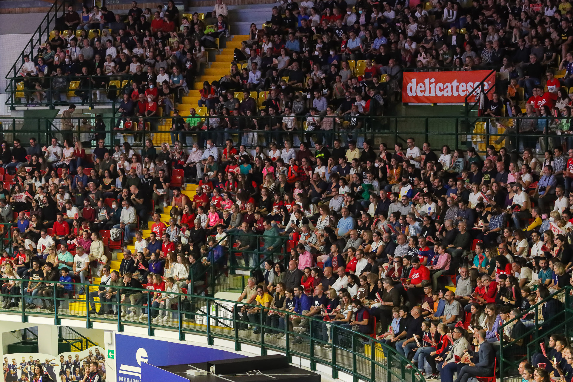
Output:
<svg viewBox="0 0 573 382">
<path fill-rule="evenodd" d="M 0 279 L 0 282 L 7 281 L 14 281 L 14 279 Z M 47 284 L 47 282 L 45 283 Z M 145 321 L 134 321 L 127 317 L 121 317 L 121 314 L 117 314 L 117 317 L 115 317 L 96 316 L 95 314 L 89 313 L 90 300 L 88 298 L 85 300 L 85 313 L 80 312 L 81 315 L 71 314 L 70 310 L 62 308 L 60 303 L 65 302 L 68 304 L 84 304 L 84 301 L 60 297 L 58 292 L 63 289 L 58 288 L 57 283 L 60 283 L 62 286 L 72 285 L 72 288 L 76 288 L 76 290 L 83 288 L 85 289 L 86 297 L 89 296 L 89 292 L 91 292 L 90 289 L 97 290 L 98 287 L 97 285 L 92 284 L 68 282 L 55 282 L 54 285 L 48 285 L 48 288 L 52 288 L 53 294 L 51 297 L 44 298 L 45 300 L 53 302 L 54 312 L 46 312 L 46 310 L 26 310 L 23 304 L 23 298 L 29 296 L 24 293 L 24 288 L 20 288 L 18 294 L 3 294 L 2 296 L 20 300 L 22 302 L 21 309 L 15 310 L 10 308 L 7 310 L 0 308 L 0 314 L 18 313 L 21 315 L 22 322 L 28 322 L 28 318 L 31 316 L 53 317 L 54 325 L 60 325 L 62 318 L 79 318 L 80 320 L 85 320 L 87 328 L 92 328 L 92 323 L 96 320 L 103 322 L 115 322 L 119 332 L 123 332 L 124 325 L 146 326 L 150 336 L 154 336 L 155 329 L 174 330 L 179 333 L 180 340 L 185 340 L 185 334 L 200 334 L 207 337 L 207 344 L 209 345 L 213 345 L 214 338 L 223 338 L 226 340 L 234 341 L 237 351 L 240 351 L 241 344 L 248 344 L 259 346 L 261 348 L 261 355 L 265 355 L 266 352 L 270 349 L 273 351 L 286 353 L 287 356 L 303 357 L 311 361 L 311 369 L 313 371 L 316 371 L 317 364 L 319 363 L 328 365 L 332 369 L 332 377 L 335 379 L 338 377 L 339 371 L 343 371 L 350 373 L 354 377 L 354 380 L 362 379 L 369 382 L 381 382 L 390 381 L 392 380 L 391 377 L 394 376 L 395 378 L 401 379 L 402 381 L 425 382 L 423 375 L 419 373 L 417 369 L 406 368 L 406 365 L 413 365 L 409 360 L 400 355 L 395 348 L 386 345 L 385 342 L 380 342 L 375 338 L 371 338 L 368 336 L 368 334 L 355 332 L 351 328 L 331 325 L 328 322 L 320 320 L 319 318 L 306 317 L 296 313 L 288 313 L 289 317 L 298 317 L 300 319 L 308 318 L 309 320 L 310 325 L 308 325 L 308 339 L 311 343 L 311 346 L 297 348 L 296 346 L 291 345 L 289 339 L 292 338 L 292 336 L 297 336 L 298 334 L 288 330 L 288 326 L 286 326 L 285 329 L 278 329 L 278 332 L 284 334 L 284 344 L 282 341 L 278 343 L 277 340 L 273 340 L 273 338 L 265 337 L 265 331 L 277 330 L 277 328 L 265 324 L 265 320 L 263 320 L 264 309 L 260 310 L 259 322 L 261 322 L 261 324 L 256 324 L 257 326 L 264 328 L 264 330 L 261 330 L 260 336 L 254 337 L 242 335 L 242 332 L 240 332 L 239 328 L 241 325 L 245 324 L 245 321 L 240 320 L 238 316 L 233 315 L 233 317 L 224 317 L 218 314 L 219 310 L 224 309 L 225 306 L 233 306 L 232 310 L 234 312 L 238 312 L 240 306 L 246 306 L 248 309 L 256 308 L 257 305 L 254 304 L 223 300 L 214 297 L 195 296 L 193 294 L 168 293 L 174 296 L 173 298 L 176 299 L 176 307 L 173 308 L 170 306 L 169 308 L 156 308 L 152 307 L 152 302 L 154 300 L 152 299 L 151 294 L 154 293 L 154 291 L 149 291 L 149 293 L 146 293 L 147 290 L 145 289 L 129 288 L 125 286 L 109 287 L 113 291 L 117 290 L 117 295 L 131 291 L 135 293 L 141 293 L 142 296 L 146 297 L 143 298 L 143 301 L 147 300 L 147 309 L 150 309 L 148 310 L 148 318 L 145 318 Z M 182 310 L 182 303 L 185 302 L 185 300 L 190 301 L 191 304 L 205 304 L 206 309 L 197 309 L 192 311 Z M 173 303 L 175 303 L 175 301 Z M 99 304 L 99 301 L 96 300 L 95 304 Z M 129 304 L 125 301 L 125 299 L 123 301 L 117 299 L 116 302 L 112 302 L 111 305 L 115 306 L 117 312 L 120 312 L 121 310 L 127 310 L 128 308 L 146 309 L 142 305 Z M 161 312 L 165 312 L 166 314 L 175 315 L 176 318 L 172 319 L 171 324 L 154 322 L 151 320 L 151 309 L 159 310 Z M 214 313 L 211 312 L 212 310 Z M 185 322 L 184 324 L 185 314 L 191 314 L 193 317 L 195 317 L 195 323 L 188 324 Z M 176 322 L 174 323 L 173 321 Z M 204 323 L 197 323 L 197 321 Z M 219 322 L 226 322 L 229 325 L 218 325 Z M 319 330 L 319 326 L 322 328 L 323 323 L 327 325 L 328 333 L 331 334 L 330 338 L 332 338 L 332 348 L 329 351 L 318 352 L 315 350 L 315 346 L 313 345 L 328 344 L 328 341 L 325 341 L 316 336 L 316 334 L 318 334 L 317 330 Z M 232 329 L 230 329 L 230 324 L 232 324 Z M 348 349 L 343 346 L 342 342 L 340 342 L 342 340 L 350 342 L 351 348 Z M 364 342 L 364 346 L 369 346 L 368 352 L 360 351 L 362 342 Z M 384 358 L 386 359 L 385 362 L 383 361 Z"/>
</svg>

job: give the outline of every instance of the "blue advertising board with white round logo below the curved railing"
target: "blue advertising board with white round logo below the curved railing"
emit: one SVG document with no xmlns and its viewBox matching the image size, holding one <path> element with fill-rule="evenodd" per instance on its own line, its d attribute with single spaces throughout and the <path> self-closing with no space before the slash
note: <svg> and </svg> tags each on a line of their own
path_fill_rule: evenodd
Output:
<svg viewBox="0 0 573 382">
<path fill-rule="evenodd" d="M 142 364 L 170 366 L 245 357 L 209 346 L 115 334 L 118 382 L 142 382 Z"/>
</svg>

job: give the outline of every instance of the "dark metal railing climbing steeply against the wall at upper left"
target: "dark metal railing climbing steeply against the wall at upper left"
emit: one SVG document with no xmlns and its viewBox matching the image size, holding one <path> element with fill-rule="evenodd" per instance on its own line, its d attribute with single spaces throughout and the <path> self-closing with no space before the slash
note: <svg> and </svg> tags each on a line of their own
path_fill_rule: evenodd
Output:
<svg viewBox="0 0 573 382">
<path fill-rule="evenodd" d="M 14 78 L 17 78 L 18 72 L 22 68 L 22 64 L 24 62 L 24 56 L 28 54 L 30 56 L 30 60 L 33 60 L 35 57 L 34 50 L 40 48 L 40 45 L 45 44 L 46 41 L 49 40 L 50 31 L 52 31 L 53 27 L 55 26 L 56 19 L 62 15 L 64 15 L 66 11 L 65 7 L 66 3 L 63 1 L 56 0 L 48 10 L 48 13 L 44 16 L 40 25 L 38 25 L 36 31 L 34 31 L 32 37 L 22 49 L 22 52 L 19 54 L 18 58 L 8 70 L 6 74 L 7 86 L 5 89 L 6 93 L 9 93 L 8 100 L 6 101 L 6 105 L 14 104 L 14 96 L 16 91 L 16 82 Z M 20 77 L 21 79 L 22 77 Z"/>
</svg>

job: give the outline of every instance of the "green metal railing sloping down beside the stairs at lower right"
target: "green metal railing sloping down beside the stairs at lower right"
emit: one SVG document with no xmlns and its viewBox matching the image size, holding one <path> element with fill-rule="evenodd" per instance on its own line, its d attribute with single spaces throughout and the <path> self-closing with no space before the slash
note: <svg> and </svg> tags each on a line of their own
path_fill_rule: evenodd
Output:
<svg viewBox="0 0 573 382">
<path fill-rule="evenodd" d="M 571 336 L 573 326 L 570 320 L 573 317 L 573 309 L 571 309 L 570 292 L 572 290 L 573 288 L 571 286 L 559 289 L 547 298 L 531 306 L 526 312 L 523 312 L 523 314 L 533 313 L 533 318 L 529 320 L 528 330 L 520 337 L 508 341 L 501 335 L 501 333 L 504 332 L 504 328 L 508 328 L 512 325 L 512 321 L 500 326 L 499 363 L 501 380 L 511 379 L 512 376 L 515 376 L 516 379 L 521 379 L 521 376 L 517 373 L 519 363 L 524 360 L 531 361 L 533 353 L 540 352 L 539 344 L 540 342 L 545 342 L 545 337 L 550 336 L 552 333 L 563 333 L 567 338 Z M 543 317 L 543 320 L 541 320 L 541 307 L 552 298 L 556 298 L 562 302 L 563 309 L 559 310 L 555 316 Z M 531 321 L 533 321 L 533 325 L 531 325 Z M 520 341 L 522 342 L 521 345 L 518 344 Z"/>
</svg>

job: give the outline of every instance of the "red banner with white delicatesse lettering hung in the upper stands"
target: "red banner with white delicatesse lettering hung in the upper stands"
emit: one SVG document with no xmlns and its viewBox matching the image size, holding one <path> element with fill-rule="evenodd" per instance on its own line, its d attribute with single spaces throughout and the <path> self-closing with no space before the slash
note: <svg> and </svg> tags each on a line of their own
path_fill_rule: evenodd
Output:
<svg viewBox="0 0 573 382">
<path fill-rule="evenodd" d="M 491 74 L 490 74 L 491 73 Z M 495 85 L 495 73 L 490 70 L 468 70 L 464 72 L 404 72 L 402 81 L 403 103 L 464 103 L 466 96 L 481 81 L 484 89 Z M 469 101 L 476 100 L 478 93 L 472 93 Z"/>
</svg>

